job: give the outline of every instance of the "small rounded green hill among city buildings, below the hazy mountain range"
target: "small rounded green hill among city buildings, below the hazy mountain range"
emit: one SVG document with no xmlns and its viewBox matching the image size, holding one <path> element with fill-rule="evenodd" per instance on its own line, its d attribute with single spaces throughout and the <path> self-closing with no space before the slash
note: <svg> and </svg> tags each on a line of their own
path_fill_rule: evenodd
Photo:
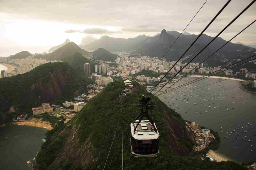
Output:
<svg viewBox="0 0 256 170">
<path fill-rule="evenodd" d="M 92 53 L 92 57 L 97 59 L 97 60 L 103 60 L 103 61 L 112 61 L 114 62 L 118 55 L 113 54 L 104 48 L 98 48 Z"/>
</svg>

